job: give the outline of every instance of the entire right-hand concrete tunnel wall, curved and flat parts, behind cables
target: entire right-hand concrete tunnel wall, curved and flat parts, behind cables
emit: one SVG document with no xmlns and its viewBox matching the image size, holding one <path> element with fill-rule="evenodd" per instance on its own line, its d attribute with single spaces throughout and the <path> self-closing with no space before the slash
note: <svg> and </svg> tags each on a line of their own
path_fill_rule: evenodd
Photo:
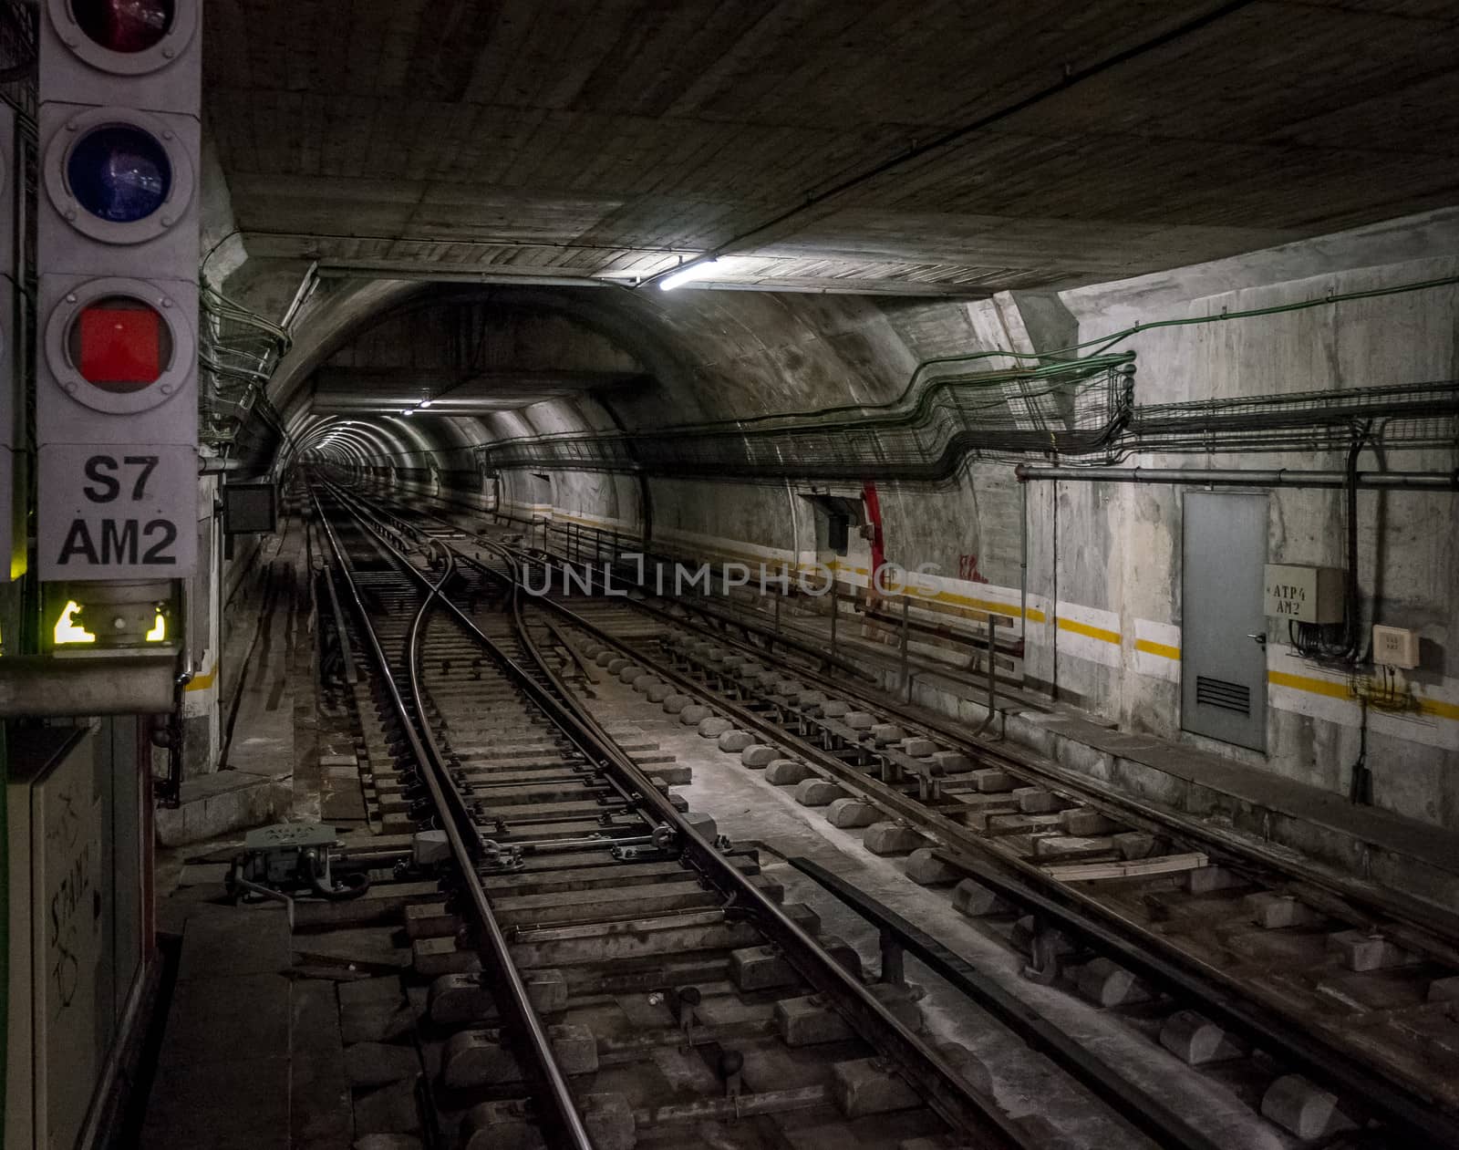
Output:
<svg viewBox="0 0 1459 1150">
<path fill-rule="evenodd" d="M 1075 336 L 1096 339 L 1135 321 L 1320 299 L 1329 292 L 1411 283 L 1456 270 L 1452 260 L 1385 263 L 1385 250 L 1405 257 L 1421 250 L 1418 234 L 1390 229 L 1382 244 L 1358 247 L 1322 241 L 1277 250 L 1271 258 L 1185 269 L 1059 296 L 1002 295 L 970 302 L 696 290 L 591 290 L 569 298 L 543 290 L 533 296 L 538 305 L 576 308 L 581 323 L 610 333 L 652 382 L 549 400 L 474 423 L 460 420 L 465 428 L 461 435 L 487 444 L 522 435 L 814 412 L 848 401 L 886 403 L 902 394 L 918 362 L 932 356 L 1048 350 Z M 1455 375 L 1455 302 L 1453 289 L 1392 295 L 1217 325 L 1142 331 L 1122 346 L 1137 350 L 1137 401 L 1142 404 L 1441 379 Z M 1008 363 L 986 360 L 991 368 Z M 430 426 L 429 420 L 417 423 Z M 460 447 L 430 448 L 422 458 L 432 457 L 439 482 L 449 486 L 452 468 L 458 477 L 464 474 L 451 463 L 460 454 Z M 1344 460 L 1332 452 L 1153 454 L 1125 463 L 1335 470 Z M 1377 464 L 1369 455 L 1363 466 Z M 1398 452 L 1386 466 L 1447 468 L 1452 458 Z M 512 468 L 503 470 L 499 482 L 503 509 L 632 533 L 648 524 L 652 541 L 673 552 L 802 566 L 817 556 L 813 489 L 805 483 L 651 479 L 641 485 L 632 476 Z M 833 493 L 859 498 L 855 485 L 836 486 Z M 1347 692 L 1345 676 L 1294 658 L 1275 629 L 1269 636 L 1274 677 L 1268 684 L 1266 753 L 1182 731 L 1180 489 L 1032 485 L 1024 521 L 1024 492 L 1011 466 L 978 461 L 944 490 L 883 483 L 878 496 L 889 560 L 909 568 L 935 565 L 940 575 L 929 585 L 943 607 L 960 617 L 994 609 L 1027 628 L 1023 671 L 1030 686 L 1123 730 L 1158 734 L 1345 791 L 1358 753 L 1358 703 Z M 1269 562 L 1342 565 L 1341 492 L 1278 490 L 1269 506 Z M 1018 620 L 1024 522 L 1029 598 L 1027 619 Z M 1402 814 L 1455 826 L 1459 684 L 1446 654 L 1456 638 L 1449 616 L 1456 590 L 1452 540 L 1459 527 L 1453 499 L 1363 493 L 1360 524 L 1364 633 L 1376 600 L 1380 622 L 1417 628 L 1425 641 L 1424 667 L 1412 677 L 1423 709 L 1415 715 L 1373 714 L 1369 721 L 1374 800 Z M 870 553 L 855 534 L 840 571 L 848 582 L 865 582 Z M 924 654 L 947 657 L 934 648 Z M 1303 682 L 1293 686 L 1297 680 Z"/>
</svg>

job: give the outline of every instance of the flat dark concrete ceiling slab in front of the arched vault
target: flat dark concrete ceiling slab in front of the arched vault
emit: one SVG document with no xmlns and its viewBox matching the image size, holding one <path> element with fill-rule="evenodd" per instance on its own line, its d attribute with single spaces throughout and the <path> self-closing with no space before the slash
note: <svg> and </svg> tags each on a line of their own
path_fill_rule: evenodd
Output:
<svg viewBox="0 0 1459 1150">
<path fill-rule="evenodd" d="M 210 0 L 206 115 L 264 261 L 624 283 L 719 251 L 728 286 L 985 295 L 1459 203 L 1456 20 L 1452 0 Z"/>
</svg>

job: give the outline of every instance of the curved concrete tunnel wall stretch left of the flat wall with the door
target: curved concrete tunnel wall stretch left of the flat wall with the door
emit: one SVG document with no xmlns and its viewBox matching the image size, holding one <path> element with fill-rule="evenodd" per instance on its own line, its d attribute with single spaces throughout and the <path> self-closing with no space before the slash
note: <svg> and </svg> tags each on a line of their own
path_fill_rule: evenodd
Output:
<svg viewBox="0 0 1459 1150">
<path fill-rule="evenodd" d="M 538 299 L 560 304 L 552 293 L 540 293 Z M 575 306 L 579 323 L 611 331 L 651 379 L 641 387 L 484 416 L 480 442 L 887 403 L 909 385 L 919 360 L 996 350 L 1004 337 L 1004 320 L 994 301 L 588 292 Z M 446 454 L 438 452 L 433 466 L 449 486 Z M 808 485 L 659 477 L 641 485 L 632 476 L 563 470 L 538 474 L 503 468 L 502 509 L 641 533 L 646 486 L 648 525 L 657 546 L 746 562 L 810 563 L 816 557 Z M 438 490 L 432 482 L 398 474 L 395 482 L 404 490 Z M 856 485 L 845 493 L 859 498 Z M 986 594 L 980 590 L 986 587 L 983 579 L 994 578 L 1004 584 L 1010 601 L 1017 601 L 1018 502 L 1007 468 L 979 468 L 976 489 L 970 474 L 947 490 L 887 489 L 883 506 L 889 559 L 907 566 L 935 563 L 948 594 L 957 587 Z M 854 539 L 843 575 L 864 584 L 868 562 L 865 544 Z M 960 569 L 970 576 L 957 578 Z"/>
</svg>

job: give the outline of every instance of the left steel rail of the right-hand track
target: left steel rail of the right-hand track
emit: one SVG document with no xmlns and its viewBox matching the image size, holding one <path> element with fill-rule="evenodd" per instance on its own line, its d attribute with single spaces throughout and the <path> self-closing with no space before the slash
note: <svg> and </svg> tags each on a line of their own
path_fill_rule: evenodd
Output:
<svg viewBox="0 0 1459 1150">
<path fill-rule="evenodd" d="M 498 544 L 487 546 L 498 547 Z M 506 549 L 499 547 L 499 550 Z M 506 578 L 500 572 L 492 571 L 479 560 L 471 560 L 467 556 L 461 557 L 484 572 L 498 578 Z M 607 633 L 601 628 L 597 628 L 582 616 L 572 611 L 569 607 L 546 597 L 538 598 L 538 603 L 565 616 L 584 630 L 591 632 L 600 642 L 616 648 L 627 657 L 643 661 L 641 651 L 633 649 L 623 641 Z M 668 667 L 658 665 L 655 667 L 655 673 L 661 679 L 665 679 L 667 682 L 671 682 L 694 695 L 705 693 L 702 684 Z M 1011 870 L 1024 880 L 1043 886 L 1049 884 L 1048 877 L 1043 876 L 1037 867 L 1033 867 L 1023 860 L 995 854 L 980 836 L 969 830 L 966 826 L 961 826 L 947 816 L 937 813 L 919 800 L 903 794 L 886 782 L 871 778 L 865 772 L 843 763 L 832 755 L 827 755 L 814 743 L 785 731 L 783 728 L 765 719 L 762 715 L 732 701 L 716 698 L 713 705 L 716 709 L 734 718 L 738 725 L 760 731 L 773 741 L 779 741 L 782 746 L 794 749 L 798 755 L 808 759 L 813 765 L 826 771 L 837 781 L 859 790 L 864 795 L 870 797 L 872 803 L 881 806 L 889 813 L 916 825 L 922 830 L 929 830 L 934 836 L 941 838 L 944 845 L 956 846 L 959 851 L 970 857 L 988 858 Z M 1110 908 L 1090 898 L 1084 892 L 1062 883 L 1058 884 L 1058 890 L 1061 898 L 1068 903 L 1072 903 L 1080 912 L 1088 915 L 1093 921 L 1102 922 L 1107 937 L 1128 937 L 1129 934 L 1145 935 L 1137 924 L 1121 918 L 1110 911 Z M 1360 1062 L 1325 1039 L 1315 1038 L 1296 1026 L 1287 1024 L 1275 1016 L 1261 1019 L 1261 1016 L 1255 1011 L 1231 1011 L 1230 1003 L 1233 1001 L 1233 995 L 1242 994 L 1242 988 L 1227 979 L 1223 972 L 1196 966 L 1189 956 L 1182 954 L 1179 950 L 1156 937 L 1144 937 L 1142 944 L 1154 944 L 1160 947 L 1163 952 L 1160 957 L 1161 962 L 1170 966 L 1170 969 L 1183 969 L 1185 978 L 1182 987 L 1192 998 L 1208 1004 L 1212 1010 L 1220 1010 L 1221 1014 L 1231 1022 L 1233 1029 L 1237 1029 L 1246 1036 L 1255 1038 L 1258 1045 L 1268 1052 L 1278 1054 L 1290 1064 L 1313 1074 L 1316 1078 L 1325 1080 L 1329 1084 L 1336 1084 L 1350 1096 L 1360 1096 L 1366 1099 L 1370 1106 L 1380 1111 L 1392 1122 L 1392 1125 L 1412 1132 L 1420 1140 L 1418 1144 L 1421 1146 L 1433 1146 L 1436 1150 L 1441 1147 L 1459 1146 L 1459 1122 L 1439 1115 L 1434 1109 L 1434 1103 L 1421 1093 L 1382 1077 L 1382 1071 L 1377 1068 Z M 1131 950 L 1131 944 L 1126 941 L 1122 950 Z M 1247 1020 L 1261 1020 L 1262 1026 L 1259 1030 L 1249 1027 L 1243 1029 L 1243 1023 Z"/>
</svg>

